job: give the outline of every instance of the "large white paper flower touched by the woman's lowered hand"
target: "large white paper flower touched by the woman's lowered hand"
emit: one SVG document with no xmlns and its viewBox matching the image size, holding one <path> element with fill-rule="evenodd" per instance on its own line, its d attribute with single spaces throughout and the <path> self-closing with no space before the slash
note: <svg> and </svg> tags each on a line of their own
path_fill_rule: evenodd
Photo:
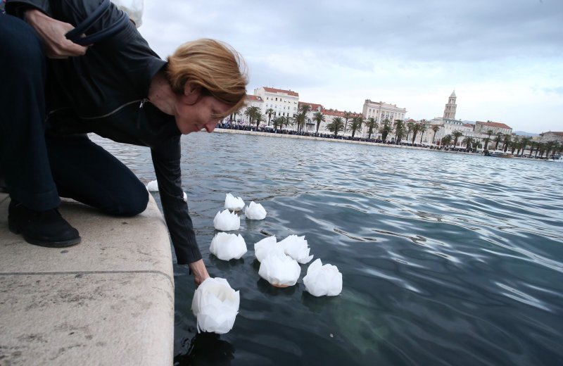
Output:
<svg viewBox="0 0 563 366">
<path fill-rule="evenodd" d="M 191 311 L 198 320 L 198 332 L 229 332 L 239 313 L 240 301 L 239 291 L 234 291 L 226 279 L 205 279 L 191 301 Z"/>
</svg>

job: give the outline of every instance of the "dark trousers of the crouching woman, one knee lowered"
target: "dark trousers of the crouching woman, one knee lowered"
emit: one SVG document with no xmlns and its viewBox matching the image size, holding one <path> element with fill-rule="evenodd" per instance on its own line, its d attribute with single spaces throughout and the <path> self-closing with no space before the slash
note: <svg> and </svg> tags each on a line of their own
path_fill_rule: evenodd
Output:
<svg viewBox="0 0 563 366">
<path fill-rule="evenodd" d="M 60 196 L 114 215 L 148 203 L 144 184 L 87 135 L 45 135 L 46 59 L 34 30 L 0 15 L 0 173 L 11 198 L 34 210 Z"/>
</svg>

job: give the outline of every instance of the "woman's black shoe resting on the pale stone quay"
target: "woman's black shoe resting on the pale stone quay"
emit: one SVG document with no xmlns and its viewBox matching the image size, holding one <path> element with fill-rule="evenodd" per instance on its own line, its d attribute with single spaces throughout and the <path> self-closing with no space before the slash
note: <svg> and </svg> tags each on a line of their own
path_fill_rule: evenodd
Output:
<svg viewBox="0 0 563 366">
<path fill-rule="evenodd" d="M 8 228 L 14 234 L 22 234 L 27 243 L 38 246 L 61 248 L 80 243 L 78 230 L 56 208 L 34 211 L 12 200 L 8 206 Z"/>
</svg>

